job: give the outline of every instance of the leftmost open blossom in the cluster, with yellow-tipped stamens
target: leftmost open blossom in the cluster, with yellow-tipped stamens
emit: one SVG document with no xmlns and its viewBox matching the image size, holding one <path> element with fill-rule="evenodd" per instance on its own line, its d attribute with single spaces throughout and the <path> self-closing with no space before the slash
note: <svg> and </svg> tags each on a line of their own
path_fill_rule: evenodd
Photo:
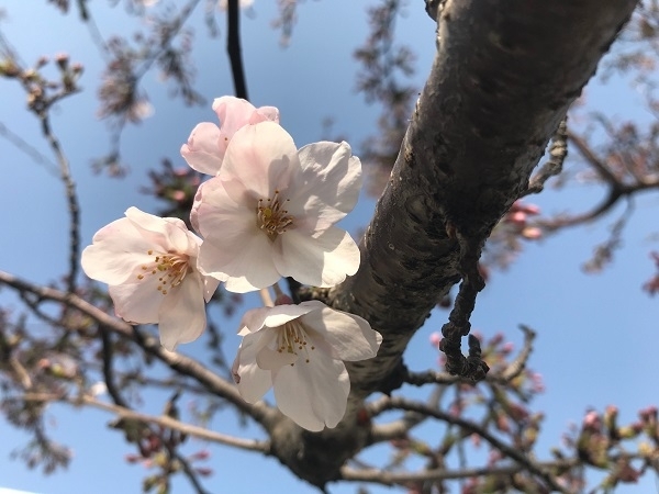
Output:
<svg viewBox="0 0 659 494">
<path fill-rule="evenodd" d="M 174 350 L 204 330 L 204 301 L 219 281 L 197 269 L 201 239 L 182 221 L 137 207 L 125 215 L 97 232 L 82 251 L 82 269 L 110 285 L 119 317 L 133 324 L 158 323 L 160 343 Z"/>
</svg>

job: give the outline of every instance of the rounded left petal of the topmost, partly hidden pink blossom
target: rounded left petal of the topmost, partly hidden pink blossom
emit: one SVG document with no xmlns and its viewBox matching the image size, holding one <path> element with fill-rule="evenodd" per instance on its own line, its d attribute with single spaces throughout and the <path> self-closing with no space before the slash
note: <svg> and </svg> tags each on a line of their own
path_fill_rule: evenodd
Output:
<svg viewBox="0 0 659 494">
<path fill-rule="evenodd" d="M 226 150 L 226 145 L 220 145 L 221 138 L 217 125 L 202 122 L 192 130 L 188 143 L 181 146 L 181 156 L 193 170 L 217 175 Z"/>
</svg>

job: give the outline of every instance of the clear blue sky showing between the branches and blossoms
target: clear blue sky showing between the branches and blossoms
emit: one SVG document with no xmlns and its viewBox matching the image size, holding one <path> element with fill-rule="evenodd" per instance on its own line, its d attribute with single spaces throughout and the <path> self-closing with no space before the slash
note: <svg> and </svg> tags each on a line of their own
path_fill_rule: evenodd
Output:
<svg viewBox="0 0 659 494">
<path fill-rule="evenodd" d="M 130 176 L 109 180 L 94 176 L 89 166 L 93 157 L 108 150 L 108 135 L 96 116 L 94 94 L 102 60 L 89 41 L 87 29 L 75 15 L 63 16 L 46 2 L 9 3 L 8 16 L 0 26 L 24 60 L 30 63 L 43 54 L 67 52 L 71 60 L 79 60 L 86 67 L 81 79 L 86 91 L 55 109 L 54 126 L 78 183 L 82 244 L 87 245 L 97 229 L 121 217 L 129 206 L 150 212 L 157 209 L 152 198 L 139 193 L 139 188 L 148 183 L 147 170 L 156 168 L 163 157 L 185 166 L 178 154 L 180 145 L 198 122 L 213 121 L 212 99 L 233 91 L 225 41 L 223 37 L 206 41 L 201 16 L 193 20 L 199 42 L 194 52 L 198 90 L 209 100 L 208 106 L 183 108 L 170 101 L 167 87 L 159 83 L 156 72 L 145 77 L 144 88 L 156 113 L 142 125 L 130 127 L 124 135 L 122 151 L 131 164 Z M 365 5 L 368 2 L 302 3 L 291 45 L 286 49 L 278 45 L 279 33 L 269 25 L 275 16 L 273 3 L 256 2 L 243 23 L 243 54 L 253 102 L 278 106 L 282 125 L 299 146 L 317 141 L 323 119 L 331 116 L 335 121 L 334 128 L 346 135 L 358 151 L 359 143 L 376 131 L 378 115 L 377 109 L 366 106 L 361 96 L 354 92 L 357 65 L 351 53 L 367 35 Z M 90 9 L 103 35 L 127 32 L 122 5 L 111 10 L 101 1 L 91 2 Z M 421 87 L 431 66 L 434 26 L 422 8 L 409 7 L 407 11 L 409 15 L 399 22 L 400 41 L 416 50 L 416 80 Z M 36 32 L 41 35 L 35 36 Z M 0 122 L 48 155 L 40 138 L 37 122 L 24 111 L 24 96 L 16 85 L 7 80 L 1 85 Z M 606 108 L 608 114 L 622 119 L 643 117 L 640 98 L 622 81 L 612 85 L 589 88 L 589 104 Z M 604 104 L 606 106 L 602 106 Z M 0 139 L 0 167 L 4 170 L 0 211 L 5 225 L 0 244 L 0 268 L 47 283 L 66 267 L 67 213 L 63 187 L 45 167 L 31 161 L 4 139 Z M 596 188 L 569 187 L 558 192 L 549 190 L 530 201 L 545 212 L 583 211 L 602 194 Z M 356 231 L 365 225 L 372 206 L 372 199 L 364 198 L 346 227 Z M 594 245 L 606 237 L 607 226 L 622 213 L 621 209 L 596 224 L 527 244 L 507 271 L 494 272 L 490 285 L 479 297 L 472 324 L 484 335 L 504 332 L 506 339 L 518 347 L 518 324 L 538 332 L 530 367 L 543 374 L 547 388 L 534 405 L 534 409 L 547 413 L 537 450 L 540 456 L 559 444 L 568 425 L 580 422 L 588 407 L 603 409 L 608 404 L 617 404 L 625 423 L 635 418 L 638 408 L 659 403 L 656 379 L 659 375 L 656 358 L 659 305 L 657 299 L 640 290 L 652 273 L 648 251 L 659 248 L 657 238 L 651 237 L 659 226 L 658 206 L 656 193 L 639 197 L 624 246 L 616 252 L 613 265 L 602 273 L 584 274 L 581 266 L 590 258 Z M 18 307 L 7 291 L 0 292 L 0 302 Z M 440 328 L 446 315 L 446 312 L 434 314 L 414 337 L 406 355 L 412 369 L 435 364 L 436 352 L 427 339 L 432 332 Z M 228 358 L 233 358 L 239 341 L 231 336 L 235 326 L 235 319 L 222 324 L 228 335 Z M 196 355 L 199 347 L 183 346 L 180 350 Z M 161 404 L 160 397 L 154 396 L 146 408 L 159 413 Z M 132 449 L 120 435 L 105 428 L 111 419 L 108 414 L 54 406 L 48 417 L 54 437 L 75 451 L 69 469 L 44 478 L 11 460 L 10 452 L 26 437 L 0 420 L 0 486 L 42 494 L 138 492 L 145 472 L 142 467 L 123 461 L 123 456 Z M 260 434 L 254 428 L 239 429 L 231 413 L 220 414 L 212 427 L 246 437 Z M 203 447 L 199 442 L 196 446 Z M 215 475 L 205 483 L 211 492 L 312 492 L 273 459 L 223 447 L 213 447 L 211 451 L 208 463 Z M 188 492 L 183 481 L 177 480 L 175 487 L 177 493 Z M 648 475 L 641 485 L 618 492 L 654 490 L 655 479 Z M 356 486 L 346 484 L 331 491 L 353 493 Z M 373 489 L 372 492 L 389 490 Z"/>
</svg>

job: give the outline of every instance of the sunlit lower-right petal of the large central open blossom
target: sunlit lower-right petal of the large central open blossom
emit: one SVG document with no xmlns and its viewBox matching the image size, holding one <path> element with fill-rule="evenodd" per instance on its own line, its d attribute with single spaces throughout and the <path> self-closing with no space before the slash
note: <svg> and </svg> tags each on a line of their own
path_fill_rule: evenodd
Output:
<svg viewBox="0 0 659 494">
<path fill-rule="evenodd" d="M 314 287 L 334 287 L 359 269 L 360 254 L 347 232 L 331 226 L 316 237 L 292 228 L 277 238 L 275 266 L 283 277 Z"/>
</svg>

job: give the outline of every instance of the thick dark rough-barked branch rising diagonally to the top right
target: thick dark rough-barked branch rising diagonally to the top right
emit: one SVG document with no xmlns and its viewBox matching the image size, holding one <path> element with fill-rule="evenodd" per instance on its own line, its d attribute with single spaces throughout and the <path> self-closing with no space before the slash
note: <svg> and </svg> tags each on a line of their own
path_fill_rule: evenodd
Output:
<svg viewBox="0 0 659 494">
<path fill-rule="evenodd" d="M 310 434 L 283 420 L 270 430 L 272 452 L 300 478 L 319 486 L 338 479 L 368 444 L 361 400 L 399 385 L 410 338 L 461 278 L 460 245 L 481 247 L 527 188 L 635 4 L 448 0 L 439 10 L 437 55 L 361 242 L 361 268 L 330 293 L 384 341 L 376 359 L 349 366 L 353 391 L 339 427 Z"/>
</svg>

